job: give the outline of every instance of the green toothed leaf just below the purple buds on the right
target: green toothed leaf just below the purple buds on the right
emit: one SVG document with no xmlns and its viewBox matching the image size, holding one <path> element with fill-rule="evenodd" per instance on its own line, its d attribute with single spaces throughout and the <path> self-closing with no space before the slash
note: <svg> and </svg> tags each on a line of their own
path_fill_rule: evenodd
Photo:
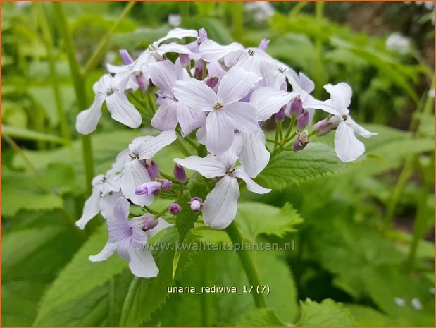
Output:
<svg viewBox="0 0 436 328">
<path fill-rule="evenodd" d="M 335 150 L 328 145 L 312 142 L 301 152 L 282 152 L 270 159 L 268 166 L 256 179 L 266 188 L 283 189 L 294 184 L 321 178 L 342 171 Z"/>
</svg>

